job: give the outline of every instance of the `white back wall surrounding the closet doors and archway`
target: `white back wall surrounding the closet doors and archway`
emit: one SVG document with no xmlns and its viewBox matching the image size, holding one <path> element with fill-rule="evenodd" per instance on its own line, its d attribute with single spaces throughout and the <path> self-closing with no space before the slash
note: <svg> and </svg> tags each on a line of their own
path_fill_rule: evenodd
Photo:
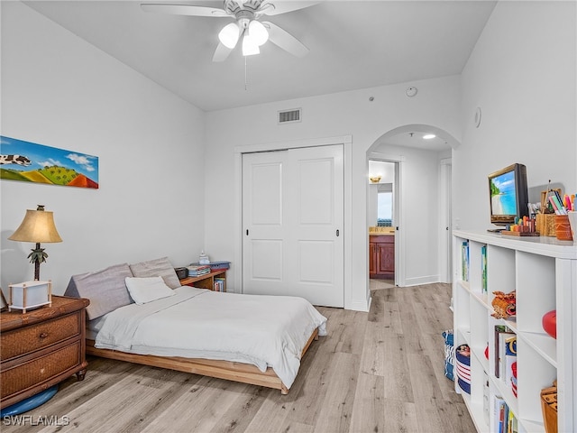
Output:
<svg viewBox="0 0 577 433">
<path fill-rule="evenodd" d="M 418 88 L 417 97 L 405 95 L 408 86 Z M 373 101 L 369 97 L 374 97 Z M 301 107 L 302 122 L 277 124 L 277 112 Z M 459 77 L 435 78 L 411 83 L 367 88 L 321 97 L 279 101 L 258 106 L 216 111 L 206 114 L 206 249 L 218 260 L 234 257 L 240 230 L 232 220 L 237 197 L 234 149 L 257 144 L 311 140 L 352 135 L 351 152 L 345 156 L 345 229 L 350 230 L 351 248 L 345 251 L 345 308 L 366 309 L 368 299 L 367 151 L 381 135 L 405 124 L 435 125 L 459 138 Z M 345 170 L 346 170 L 345 167 Z M 436 178 L 435 178 L 436 179 Z M 408 226 L 408 230 L 418 227 Z M 431 236 L 435 236 L 431 234 Z M 419 244 L 408 248 L 420 248 Z M 434 249 L 430 257 L 435 257 Z M 428 263 L 410 267 L 410 278 L 429 274 Z M 231 268 L 238 281 L 240 270 Z"/>
</svg>

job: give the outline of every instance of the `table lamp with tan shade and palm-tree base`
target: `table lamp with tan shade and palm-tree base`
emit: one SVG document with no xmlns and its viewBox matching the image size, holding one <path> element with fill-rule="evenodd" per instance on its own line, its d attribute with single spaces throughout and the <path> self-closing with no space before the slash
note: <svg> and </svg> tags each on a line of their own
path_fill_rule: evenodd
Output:
<svg viewBox="0 0 577 433">
<path fill-rule="evenodd" d="M 62 238 L 54 226 L 52 212 L 44 210 L 44 205 L 38 205 L 36 210 L 27 209 L 22 224 L 14 235 L 8 239 L 19 242 L 34 242 L 36 248 L 28 254 L 30 263 L 34 263 L 34 280 L 40 281 L 40 263 L 46 262 L 48 254 L 40 247 L 41 242 L 62 242 Z"/>
</svg>

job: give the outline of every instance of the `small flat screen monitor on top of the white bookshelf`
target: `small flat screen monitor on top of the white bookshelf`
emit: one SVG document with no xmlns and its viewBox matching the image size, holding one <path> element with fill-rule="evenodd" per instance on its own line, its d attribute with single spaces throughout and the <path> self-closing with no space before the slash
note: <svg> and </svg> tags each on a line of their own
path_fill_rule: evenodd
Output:
<svg viewBox="0 0 577 433">
<path fill-rule="evenodd" d="M 490 222 L 508 226 L 528 216 L 527 169 L 515 163 L 489 175 Z"/>
</svg>

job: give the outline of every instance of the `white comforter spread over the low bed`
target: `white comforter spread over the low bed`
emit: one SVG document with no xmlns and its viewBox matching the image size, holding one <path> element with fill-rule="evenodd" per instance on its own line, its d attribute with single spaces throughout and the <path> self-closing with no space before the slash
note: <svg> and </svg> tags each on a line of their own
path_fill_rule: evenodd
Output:
<svg viewBox="0 0 577 433">
<path fill-rule="evenodd" d="M 221 359 L 272 367 L 290 388 L 313 330 L 326 318 L 306 299 L 220 293 L 188 286 L 105 316 L 96 347 L 141 355 Z"/>
</svg>

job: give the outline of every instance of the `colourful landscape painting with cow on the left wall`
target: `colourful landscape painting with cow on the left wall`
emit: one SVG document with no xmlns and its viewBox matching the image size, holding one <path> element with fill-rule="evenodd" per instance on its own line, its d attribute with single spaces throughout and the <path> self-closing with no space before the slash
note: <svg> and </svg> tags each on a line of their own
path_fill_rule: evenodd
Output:
<svg viewBox="0 0 577 433">
<path fill-rule="evenodd" d="M 0 179 L 98 188 L 98 157 L 0 135 Z"/>
</svg>

